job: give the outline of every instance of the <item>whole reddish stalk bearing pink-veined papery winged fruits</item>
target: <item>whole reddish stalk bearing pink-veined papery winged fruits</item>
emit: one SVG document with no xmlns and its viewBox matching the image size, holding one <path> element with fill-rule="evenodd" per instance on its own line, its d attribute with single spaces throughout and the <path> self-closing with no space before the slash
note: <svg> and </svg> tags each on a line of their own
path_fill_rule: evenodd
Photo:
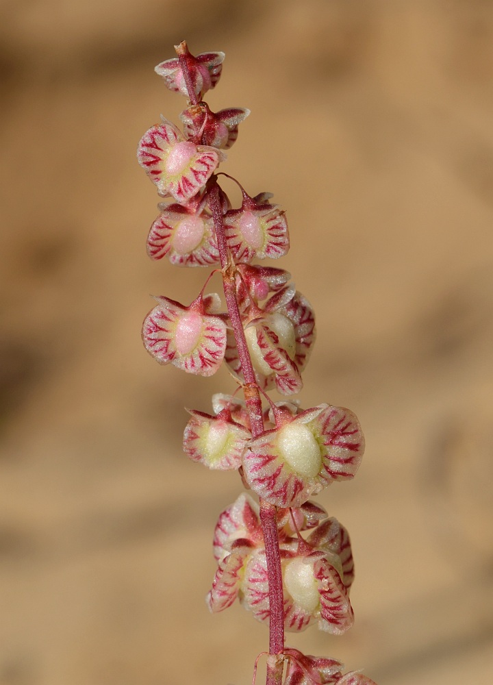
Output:
<svg viewBox="0 0 493 685">
<path fill-rule="evenodd" d="M 266 395 L 276 388 L 289 397 L 303 387 L 314 313 L 288 283 L 287 271 L 252 264 L 287 253 L 284 212 L 270 203 L 269 193 L 250 197 L 241 186 L 242 205 L 233 209 L 218 183 L 223 149 L 233 145 L 249 115 L 244 108 L 212 112 L 203 101 L 225 55 L 194 56 L 186 42 L 175 49 L 177 58 L 155 71 L 188 100 L 180 115 L 184 132 L 162 118 L 138 146 L 139 163 L 166 200 L 158 206 L 147 251 L 177 266 L 219 265 L 227 311 L 220 311 L 218 295 L 204 295 L 205 286 L 189 306 L 156 297 L 142 338 L 158 362 L 188 373 L 208 376 L 223 361 L 229 366 L 244 401 L 214 395 L 214 414 L 189 410 L 184 451 L 210 469 L 238 470 L 259 499 L 242 494 L 219 516 L 213 543 L 218 569 L 207 604 L 218 612 L 238 598 L 269 623 L 267 685 L 375 685 L 355 671 L 342 675 L 336 660 L 284 645 L 285 630 L 317 623 L 341 634 L 353 624 L 349 535 L 309 498 L 355 475 L 364 438 L 347 409 L 320 404 L 301 410 L 297 401 L 274 402 Z"/>
</svg>

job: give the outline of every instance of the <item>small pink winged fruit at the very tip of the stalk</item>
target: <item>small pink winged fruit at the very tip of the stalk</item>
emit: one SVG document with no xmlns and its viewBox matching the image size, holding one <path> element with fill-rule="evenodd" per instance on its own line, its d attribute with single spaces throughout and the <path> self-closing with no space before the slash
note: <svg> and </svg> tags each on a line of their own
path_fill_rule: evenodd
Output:
<svg viewBox="0 0 493 685">
<path fill-rule="evenodd" d="M 207 90 L 214 88 L 218 82 L 221 71 L 223 70 L 225 53 L 204 52 L 194 56 L 188 51 L 185 41 L 181 43 L 180 46 L 177 46 L 177 51 L 178 50 L 180 50 L 181 54 L 186 58 L 195 95 L 200 99 Z M 166 88 L 169 88 L 169 90 L 172 90 L 173 92 L 181 92 L 181 95 L 188 98 L 188 90 L 179 58 L 175 57 L 171 60 L 161 62 L 161 64 L 158 64 L 155 67 L 154 71 L 164 78 Z"/>
</svg>

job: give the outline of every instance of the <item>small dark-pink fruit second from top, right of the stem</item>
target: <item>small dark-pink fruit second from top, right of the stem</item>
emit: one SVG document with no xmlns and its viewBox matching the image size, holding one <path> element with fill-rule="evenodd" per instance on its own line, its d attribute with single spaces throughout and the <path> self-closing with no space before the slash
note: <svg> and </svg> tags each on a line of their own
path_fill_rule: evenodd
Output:
<svg viewBox="0 0 493 685">
<path fill-rule="evenodd" d="M 201 102 L 181 112 L 180 119 L 188 140 L 227 150 L 238 138 L 238 126 L 249 114 L 250 110 L 242 107 L 212 112 L 207 103 Z"/>
</svg>

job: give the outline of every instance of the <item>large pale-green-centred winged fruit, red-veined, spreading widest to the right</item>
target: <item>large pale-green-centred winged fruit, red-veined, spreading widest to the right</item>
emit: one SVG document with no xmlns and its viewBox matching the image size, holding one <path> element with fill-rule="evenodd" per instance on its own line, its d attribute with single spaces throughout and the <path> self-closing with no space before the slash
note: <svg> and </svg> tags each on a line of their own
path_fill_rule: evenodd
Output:
<svg viewBox="0 0 493 685">
<path fill-rule="evenodd" d="M 244 476 L 262 499 L 298 507 L 333 480 L 352 478 L 363 451 L 356 416 L 322 404 L 252 440 L 244 453 Z"/>
</svg>

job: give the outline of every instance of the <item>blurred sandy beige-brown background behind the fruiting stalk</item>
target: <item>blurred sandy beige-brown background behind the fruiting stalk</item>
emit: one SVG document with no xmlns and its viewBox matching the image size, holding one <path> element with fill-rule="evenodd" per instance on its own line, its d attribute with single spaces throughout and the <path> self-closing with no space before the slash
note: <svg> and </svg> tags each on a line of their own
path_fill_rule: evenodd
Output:
<svg viewBox="0 0 493 685">
<path fill-rule="evenodd" d="M 149 294 L 207 273 L 144 249 L 136 145 L 184 107 L 153 73 L 183 38 L 227 53 L 211 107 L 252 110 L 223 170 L 288 212 L 303 406 L 367 437 L 320 497 L 355 628 L 288 644 L 379 685 L 493 682 L 493 3 L 2 0 L 0 27 L 0 684 L 241 685 L 266 649 L 203 601 L 238 478 L 181 454 L 182 408 L 233 384 L 140 342 Z"/>
</svg>

